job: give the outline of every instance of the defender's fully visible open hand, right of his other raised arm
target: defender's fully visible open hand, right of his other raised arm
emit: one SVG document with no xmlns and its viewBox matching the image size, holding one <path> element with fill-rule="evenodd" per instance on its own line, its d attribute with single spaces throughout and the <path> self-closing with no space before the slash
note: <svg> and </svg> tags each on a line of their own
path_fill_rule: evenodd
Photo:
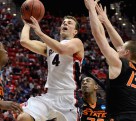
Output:
<svg viewBox="0 0 136 121">
<path fill-rule="evenodd" d="M 101 21 L 101 23 L 105 23 L 106 21 L 108 21 L 106 7 L 104 7 L 104 9 L 103 9 L 101 4 L 99 4 L 99 5 L 97 4 L 96 11 L 98 13 L 98 17 L 99 17 L 99 20 Z"/>
</svg>

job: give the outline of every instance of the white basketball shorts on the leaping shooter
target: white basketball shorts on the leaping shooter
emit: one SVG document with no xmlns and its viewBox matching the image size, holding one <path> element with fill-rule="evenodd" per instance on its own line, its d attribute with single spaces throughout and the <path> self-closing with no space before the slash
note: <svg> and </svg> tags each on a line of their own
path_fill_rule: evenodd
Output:
<svg viewBox="0 0 136 121">
<path fill-rule="evenodd" d="M 63 93 L 62 93 L 63 92 Z M 70 91 L 48 91 L 42 96 L 31 97 L 23 106 L 24 112 L 35 121 L 46 121 L 57 118 L 57 121 L 77 121 L 76 99 Z"/>
</svg>

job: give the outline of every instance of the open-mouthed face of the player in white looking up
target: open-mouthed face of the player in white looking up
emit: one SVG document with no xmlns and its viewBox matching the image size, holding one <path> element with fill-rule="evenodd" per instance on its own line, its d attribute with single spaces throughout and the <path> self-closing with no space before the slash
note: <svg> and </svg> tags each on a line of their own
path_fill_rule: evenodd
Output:
<svg viewBox="0 0 136 121">
<path fill-rule="evenodd" d="M 77 34 L 76 22 L 73 19 L 64 19 L 61 24 L 60 35 L 62 38 L 73 38 Z"/>
</svg>

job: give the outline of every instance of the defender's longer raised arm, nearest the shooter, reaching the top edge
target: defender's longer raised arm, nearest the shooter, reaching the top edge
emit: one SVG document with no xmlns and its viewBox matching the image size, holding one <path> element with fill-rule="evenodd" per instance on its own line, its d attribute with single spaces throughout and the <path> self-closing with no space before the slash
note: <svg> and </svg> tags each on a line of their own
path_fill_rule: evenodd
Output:
<svg viewBox="0 0 136 121">
<path fill-rule="evenodd" d="M 112 67 L 120 67 L 121 61 L 119 59 L 118 53 L 109 46 L 107 38 L 105 36 L 104 28 L 98 19 L 96 10 L 95 10 L 95 2 L 94 0 L 84 0 L 87 9 L 90 14 L 90 25 L 92 34 L 101 50 L 103 55 L 106 57 L 109 66 Z"/>
</svg>

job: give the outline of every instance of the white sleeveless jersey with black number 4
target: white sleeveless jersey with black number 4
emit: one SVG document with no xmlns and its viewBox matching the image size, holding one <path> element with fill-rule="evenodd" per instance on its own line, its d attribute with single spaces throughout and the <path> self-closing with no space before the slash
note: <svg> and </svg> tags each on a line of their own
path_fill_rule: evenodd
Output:
<svg viewBox="0 0 136 121">
<path fill-rule="evenodd" d="M 63 40 L 60 43 L 66 43 L 69 40 Z M 48 78 L 45 88 L 75 90 L 76 76 L 81 71 L 82 58 L 77 55 L 60 55 L 51 48 L 47 48 Z M 78 70 L 76 67 L 78 65 Z M 76 71 L 75 71 L 76 70 Z"/>
</svg>

